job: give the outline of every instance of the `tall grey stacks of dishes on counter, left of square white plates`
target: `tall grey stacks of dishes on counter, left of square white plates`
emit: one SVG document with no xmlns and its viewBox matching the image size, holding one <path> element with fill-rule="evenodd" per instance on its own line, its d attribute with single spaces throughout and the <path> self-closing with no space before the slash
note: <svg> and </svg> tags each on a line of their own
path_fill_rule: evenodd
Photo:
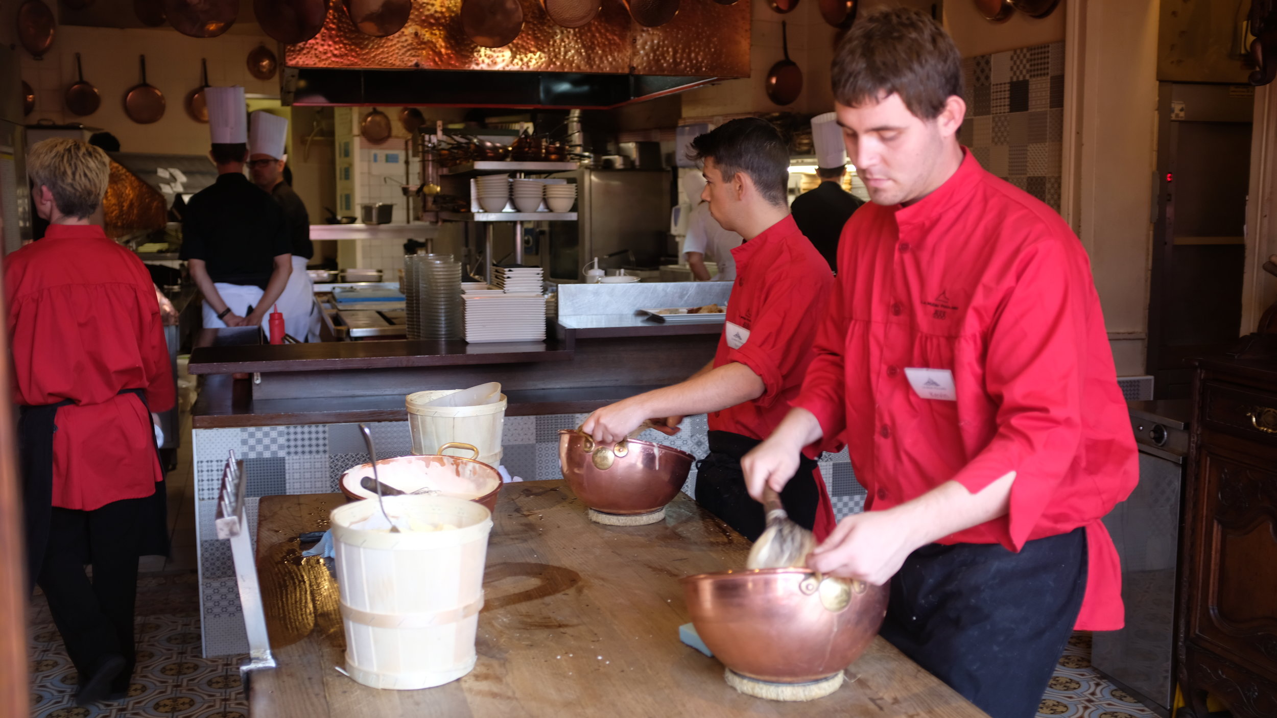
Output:
<svg viewBox="0 0 1277 718">
<path fill-rule="evenodd" d="M 461 262 L 451 254 L 404 258 L 409 339 L 461 339 Z"/>
</svg>

